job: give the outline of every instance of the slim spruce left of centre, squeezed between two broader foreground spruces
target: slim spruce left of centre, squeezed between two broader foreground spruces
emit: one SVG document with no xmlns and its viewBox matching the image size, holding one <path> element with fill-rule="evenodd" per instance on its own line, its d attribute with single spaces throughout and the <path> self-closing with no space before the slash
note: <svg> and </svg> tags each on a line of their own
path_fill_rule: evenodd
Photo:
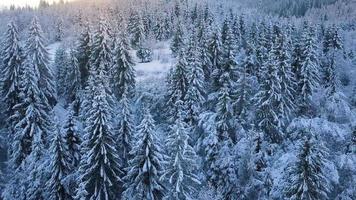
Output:
<svg viewBox="0 0 356 200">
<path fill-rule="evenodd" d="M 131 151 L 132 137 L 135 129 L 133 123 L 131 102 L 128 96 L 128 91 L 127 89 L 125 89 L 122 94 L 122 98 L 119 101 L 120 115 L 117 133 L 118 138 L 116 142 L 118 146 L 117 149 L 122 160 L 123 168 L 127 167 L 127 163 L 129 160 L 129 152 Z"/>
</svg>

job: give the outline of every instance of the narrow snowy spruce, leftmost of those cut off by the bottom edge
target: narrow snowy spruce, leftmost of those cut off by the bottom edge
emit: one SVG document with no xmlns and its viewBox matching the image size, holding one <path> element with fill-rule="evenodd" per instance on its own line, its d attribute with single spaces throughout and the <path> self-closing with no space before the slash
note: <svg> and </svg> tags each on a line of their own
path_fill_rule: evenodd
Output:
<svg viewBox="0 0 356 200">
<path fill-rule="evenodd" d="M 48 198 L 53 200 L 72 199 L 63 186 L 63 178 L 69 172 L 69 159 L 65 149 L 65 141 L 57 128 L 49 149 L 49 173 L 50 179 L 46 183 Z"/>
</svg>

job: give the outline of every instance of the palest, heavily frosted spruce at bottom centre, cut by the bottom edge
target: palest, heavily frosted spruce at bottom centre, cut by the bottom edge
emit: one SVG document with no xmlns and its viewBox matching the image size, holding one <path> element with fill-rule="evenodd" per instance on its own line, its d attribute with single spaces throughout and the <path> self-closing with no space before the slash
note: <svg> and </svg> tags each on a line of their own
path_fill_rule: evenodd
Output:
<svg viewBox="0 0 356 200">
<path fill-rule="evenodd" d="M 184 122 L 183 102 L 177 101 L 176 104 L 178 114 L 166 141 L 169 160 L 162 179 L 170 184 L 167 200 L 189 200 L 194 199 L 193 194 L 200 184 L 196 174 L 198 159 L 194 148 L 189 144 L 190 133 L 188 124 Z"/>
</svg>

